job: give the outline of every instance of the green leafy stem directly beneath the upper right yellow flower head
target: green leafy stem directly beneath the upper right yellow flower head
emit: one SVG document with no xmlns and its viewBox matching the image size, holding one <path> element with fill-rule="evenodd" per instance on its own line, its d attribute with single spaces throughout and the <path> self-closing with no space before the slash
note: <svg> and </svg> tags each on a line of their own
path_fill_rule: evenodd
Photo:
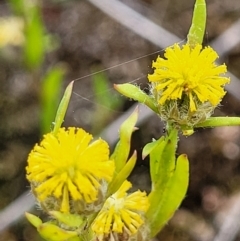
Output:
<svg viewBox="0 0 240 241">
<path fill-rule="evenodd" d="M 183 200 L 188 186 L 188 162 L 181 155 L 176 163 L 178 131 L 171 126 L 169 135 L 160 138 L 145 153 L 150 152 L 152 190 L 147 219 L 154 237 L 171 218 Z"/>
</svg>

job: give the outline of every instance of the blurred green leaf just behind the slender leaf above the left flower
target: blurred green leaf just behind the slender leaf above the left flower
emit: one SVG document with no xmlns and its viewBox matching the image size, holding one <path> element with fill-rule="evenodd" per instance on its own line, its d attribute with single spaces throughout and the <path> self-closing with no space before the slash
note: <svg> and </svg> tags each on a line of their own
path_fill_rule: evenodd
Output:
<svg viewBox="0 0 240 241">
<path fill-rule="evenodd" d="M 63 76 L 66 68 L 57 65 L 49 70 L 42 80 L 41 90 L 41 132 L 48 133 L 52 127 L 60 98 Z"/>
</svg>

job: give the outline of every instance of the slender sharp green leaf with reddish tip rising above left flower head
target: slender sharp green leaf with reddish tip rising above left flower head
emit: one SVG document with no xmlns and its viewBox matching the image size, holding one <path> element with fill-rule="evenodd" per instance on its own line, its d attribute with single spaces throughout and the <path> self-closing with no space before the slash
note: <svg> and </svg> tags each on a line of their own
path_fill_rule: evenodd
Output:
<svg viewBox="0 0 240 241">
<path fill-rule="evenodd" d="M 53 129 L 53 134 L 56 135 L 59 128 L 61 127 L 63 123 L 63 119 L 65 117 L 65 114 L 67 112 L 68 104 L 71 98 L 72 94 L 72 88 L 73 88 L 73 83 L 74 81 L 70 82 L 70 84 L 67 86 L 63 98 L 59 104 L 57 114 L 55 117 L 55 122 L 54 122 L 54 129 Z"/>
</svg>

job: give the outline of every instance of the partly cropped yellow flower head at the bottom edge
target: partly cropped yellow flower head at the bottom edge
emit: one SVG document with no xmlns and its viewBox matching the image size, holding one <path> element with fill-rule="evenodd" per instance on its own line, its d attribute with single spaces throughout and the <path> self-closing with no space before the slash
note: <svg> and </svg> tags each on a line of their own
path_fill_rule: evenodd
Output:
<svg viewBox="0 0 240 241">
<path fill-rule="evenodd" d="M 92 230 L 99 240 L 108 236 L 132 236 L 144 223 L 143 215 L 149 207 L 145 192 L 127 194 L 132 186 L 125 181 L 119 190 L 110 196 L 92 224 Z M 105 239 L 104 239 L 105 240 Z"/>
</svg>

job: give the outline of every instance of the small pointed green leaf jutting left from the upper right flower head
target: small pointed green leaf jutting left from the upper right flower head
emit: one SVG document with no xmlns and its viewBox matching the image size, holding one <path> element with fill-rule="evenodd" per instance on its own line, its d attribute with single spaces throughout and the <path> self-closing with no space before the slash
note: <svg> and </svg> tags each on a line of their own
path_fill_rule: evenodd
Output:
<svg viewBox="0 0 240 241">
<path fill-rule="evenodd" d="M 139 87 L 132 84 L 120 84 L 114 85 L 114 88 L 121 94 L 125 95 L 128 98 L 134 99 L 139 103 L 142 103 L 152 109 L 155 113 L 158 113 L 158 108 L 155 103 L 154 98 L 147 95 Z"/>
</svg>

